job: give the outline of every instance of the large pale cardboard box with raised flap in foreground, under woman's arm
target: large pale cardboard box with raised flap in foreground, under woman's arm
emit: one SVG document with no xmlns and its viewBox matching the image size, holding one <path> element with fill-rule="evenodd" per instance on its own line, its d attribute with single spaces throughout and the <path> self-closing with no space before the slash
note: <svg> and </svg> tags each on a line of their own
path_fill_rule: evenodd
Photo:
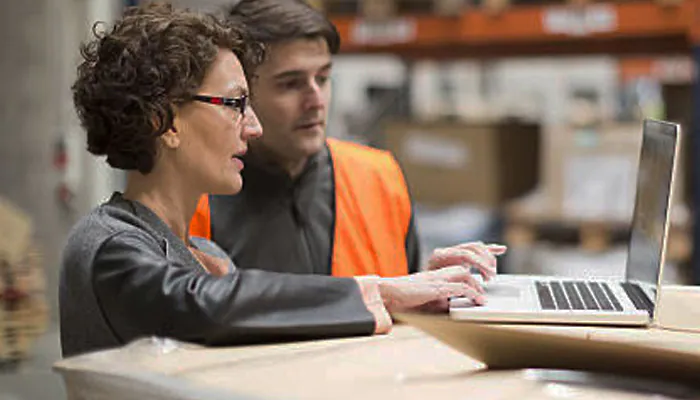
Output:
<svg viewBox="0 0 700 400">
<path fill-rule="evenodd" d="M 642 382 L 631 382 L 626 374 L 666 379 L 668 388 L 675 380 L 697 383 L 700 373 L 698 337 L 687 333 L 397 317 L 444 344 L 406 325 L 387 336 L 239 348 L 146 339 L 65 359 L 55 368 L 70 400 L 565 398 L 561 393 L 576 399 L 638 399 L 644 396 L 630 392 L 638 387 L 628 385 Z M 576 370 L 571 377 L 578 375 L 585 384 L 557 384 L 519 368 Z M 615 375 L 582 376 L 601 370 Z M 623 377 L 627 385 L 610 385 L 610 378 Z M 653 392 L 641 387 L 643 393 L 662 394 L 659 387 Z"/>
</svg>

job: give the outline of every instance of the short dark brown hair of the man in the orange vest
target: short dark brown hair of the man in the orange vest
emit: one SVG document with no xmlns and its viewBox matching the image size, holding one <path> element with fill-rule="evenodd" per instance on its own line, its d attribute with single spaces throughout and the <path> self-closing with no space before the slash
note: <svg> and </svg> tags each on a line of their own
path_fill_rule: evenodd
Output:
<svg viewBox="0 0 700 400">
<path fill-rule="evenodd" d="M 321 37 L 331 54 L 340 49 L 340 35 L 333 23 L 303 0 L 240 0 L 228 15 L 236 25 L 245 25 L 250 38 L 259 43 Z"/>
</svg>

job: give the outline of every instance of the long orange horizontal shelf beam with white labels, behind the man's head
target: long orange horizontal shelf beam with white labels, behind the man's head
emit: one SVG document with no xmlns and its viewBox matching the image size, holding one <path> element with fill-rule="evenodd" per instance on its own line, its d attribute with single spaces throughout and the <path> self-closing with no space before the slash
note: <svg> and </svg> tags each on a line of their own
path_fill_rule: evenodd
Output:
<svg viewBox="0 0 700 400">
<path fill-rule="evenodd" d="M 398 16 L 385 21 L 332 18 L 345 53 L 408 57 L 548 53 L 680 53 L 700 39 L 700 0 L 584 6 L 512 6 L 499 14 Z"/>
</svg>

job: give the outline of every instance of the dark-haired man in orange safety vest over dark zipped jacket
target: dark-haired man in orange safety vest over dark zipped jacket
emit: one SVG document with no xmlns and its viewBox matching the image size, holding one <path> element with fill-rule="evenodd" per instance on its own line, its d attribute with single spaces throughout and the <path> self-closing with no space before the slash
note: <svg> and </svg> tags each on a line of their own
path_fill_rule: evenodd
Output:
<svg viewBox="0 0 700 400">
<path fill-rule="evenodd" d="M 212 239 L 241 267 L 334 276 L 416 272 L 418 237 L 396 160 L 326 137 L 331 58 L 340 47 L 333 24 L 300 0 L 242 0 L 229 19 L 267 48 L 251 80 L 265 134 L 249 145 L 242 193 L 203 198 L 190 233 Z M 430 266 L 495 267 L 493 255 L 503 251 L 472 243 L 436 253 Z"/>
</svg>

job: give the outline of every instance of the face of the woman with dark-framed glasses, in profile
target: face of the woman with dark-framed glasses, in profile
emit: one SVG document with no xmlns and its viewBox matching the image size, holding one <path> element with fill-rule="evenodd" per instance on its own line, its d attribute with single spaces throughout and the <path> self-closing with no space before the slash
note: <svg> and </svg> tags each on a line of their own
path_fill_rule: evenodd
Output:
<svg viewBox="0 0 700 400">
<path fill-rule="evenodd" d="M 248 95 L 243 67 L 230 50 L 219 49 L 198 95 L 240 98 Z M 235 194 L 243 187 L 240 157 L 248 140 L 259 137 L 262 127 L 251 107 L 242 115 L 234 106 L 192 101 L 175 116 L 179 146 L 173 152 L 177 170 L 189 187 L 203 193 Z"/>
</svg>

